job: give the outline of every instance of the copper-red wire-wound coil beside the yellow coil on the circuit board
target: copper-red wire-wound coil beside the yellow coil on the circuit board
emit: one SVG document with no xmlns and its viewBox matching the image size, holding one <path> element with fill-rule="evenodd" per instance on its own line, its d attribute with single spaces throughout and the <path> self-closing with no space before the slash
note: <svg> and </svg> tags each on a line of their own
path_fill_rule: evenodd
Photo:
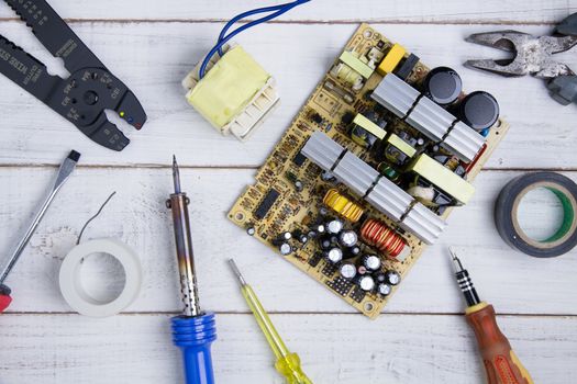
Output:
<svg viewBox="0 0 577 384">
<path fill-rule="evenodd" d="M 389 228 L 385 223 L 368 218 L 360 227 L 360 238 L 388 257 L 403 261 L 411 252 L 404 239 Z"/>
</svg>

